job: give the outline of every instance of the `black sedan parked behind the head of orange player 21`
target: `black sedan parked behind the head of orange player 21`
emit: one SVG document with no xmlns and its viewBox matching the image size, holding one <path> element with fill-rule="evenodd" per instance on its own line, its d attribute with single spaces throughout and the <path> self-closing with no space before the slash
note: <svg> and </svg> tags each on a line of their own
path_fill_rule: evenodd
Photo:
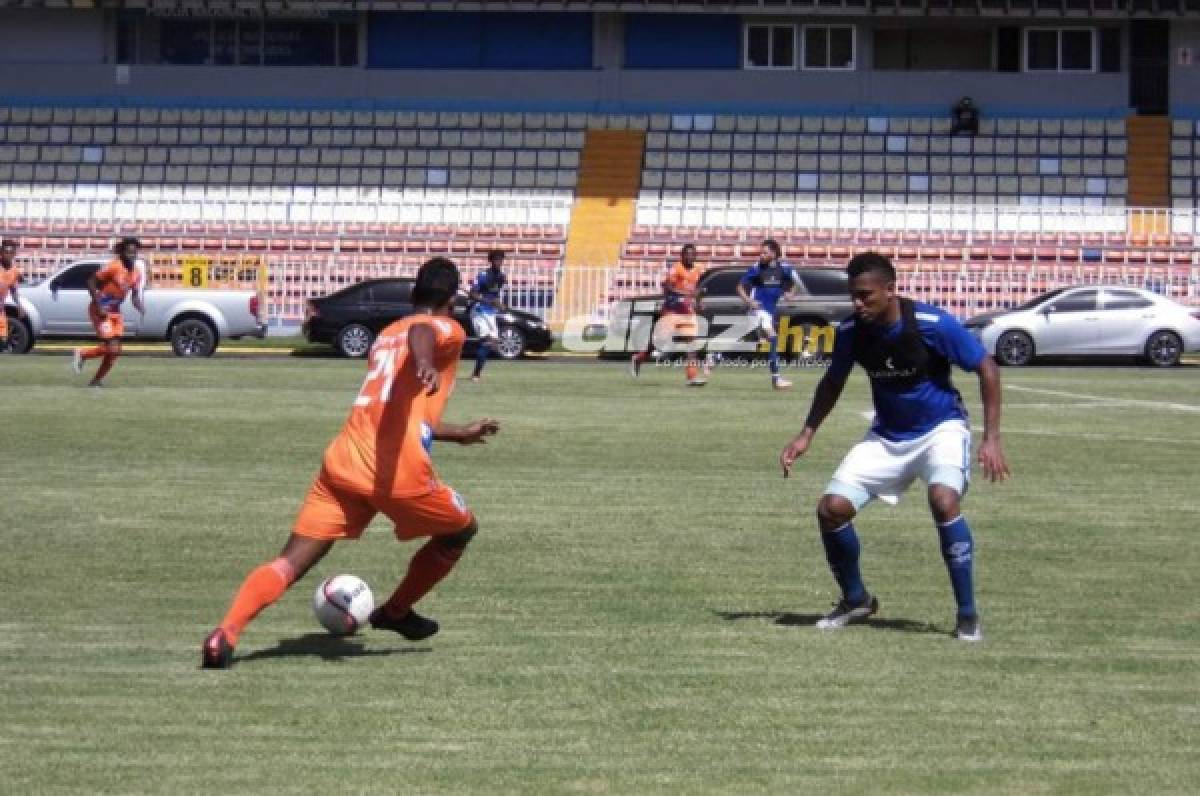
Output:
<svg viewBox="0 0 1200 796">
<path fill-rule="evenodd" d="M 304 335 L 308 342 L 331 345 L 343 357 L 366 357 L 376 335 L 391 322 L 412 315 L 412 279 L 359 282 L 336 293 L 310 299 L 305 309 Z M 455 319 L 467 333 L 467 348 L 478 343 L 470 323 L 469 303 L 460 295 Z M 506 310 L 497 315 L 499 355 L 517 359 L 526 352 L 542 352 L 554 341 L 541 318 Z"/>
</svg>

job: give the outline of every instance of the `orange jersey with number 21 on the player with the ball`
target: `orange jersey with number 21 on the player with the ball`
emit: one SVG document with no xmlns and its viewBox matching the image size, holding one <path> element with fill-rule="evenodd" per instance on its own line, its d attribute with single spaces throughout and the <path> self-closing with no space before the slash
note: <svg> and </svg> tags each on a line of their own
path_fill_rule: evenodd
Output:
<svg viewBox="0 0 1200 796">
<path fill-rule="evenodd" d="M 408 331 L 419 324 L 434 333 L 433 366 L 442 384 L 433 395 L 425 394 L 408 349 Z M 350 417 L 325 450 L 324 468 L 335 484 L 377 497 L 414 497 L 438 487 L 422 426 L 442 421 L 466 339 L 462 327 L 444 316 L 412 315 L 383 330 Z"/>
</svg>

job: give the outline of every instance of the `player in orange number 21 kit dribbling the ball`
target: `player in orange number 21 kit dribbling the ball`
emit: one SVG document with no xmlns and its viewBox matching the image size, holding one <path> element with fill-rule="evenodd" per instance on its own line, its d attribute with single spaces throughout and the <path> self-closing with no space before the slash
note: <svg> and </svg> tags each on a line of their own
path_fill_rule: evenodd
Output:
<svg viewBox="0 0 1200 796">
<path fill-rule="evenodd" d="M 250 573 L 221 624 L 203 647 L 203 666 L 226 669 L 242 628 L 275 603 L 338 539 L 358 539 L 376 516 L 395 523 L 402 540 L 431 539 L 416 551 L 391 598 L 371 614 L 371 627 L 409 641 L 427 639 L 438 623 L 413 605 L 457 563 L 479 526 L 462 497 L 438 480 L 431 439 L 469 445 L 499 424 L 442 423 L 466 335 L 451 317 L 458 269 L 436 257 L 416 274 L 413 315 L 392 323 L 371 349 L 371 369 L 342 431 L 325 449 L 292 535 L 278 557 Z"/>
</svg>

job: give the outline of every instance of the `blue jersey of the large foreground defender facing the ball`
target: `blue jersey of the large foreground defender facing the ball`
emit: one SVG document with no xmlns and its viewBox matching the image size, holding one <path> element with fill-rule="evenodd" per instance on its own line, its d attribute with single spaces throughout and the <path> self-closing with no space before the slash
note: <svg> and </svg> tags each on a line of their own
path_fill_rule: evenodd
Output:
<svg viewBox="0 0 1200 796">
<path fill-rule="evenodd" d="M 913 303 L 913 309 L 920 341 L 931 357 L 953 363 L 966 371 L 979 367 L 986 352 L 954 316 L 918 301 Z M 842 322 L 838 327 L 829 375 L 845 378 L 853 369 L 857 335 L 868 334 L 881 341 L 895 342 L 902 329 L 902 319 L 886 329 L 860 324 L 854 318 Z M 962 396 L 950 383 L 948 366 L 934 369 L 929 378 L 911 384 L 905 383 L 902 378 L 890 378 L 902 376 L 889 372 L 893 365 L 890 357 L 883 365 L 883 369 L 874 373 L 868 370 L 868 377 L 871 379 L 871 400 L 875 403 L 875 423 L 871 425 L 871 431 L 893 442 L 916 439 L 946 420 L 967 419 Z"/>
</svg>

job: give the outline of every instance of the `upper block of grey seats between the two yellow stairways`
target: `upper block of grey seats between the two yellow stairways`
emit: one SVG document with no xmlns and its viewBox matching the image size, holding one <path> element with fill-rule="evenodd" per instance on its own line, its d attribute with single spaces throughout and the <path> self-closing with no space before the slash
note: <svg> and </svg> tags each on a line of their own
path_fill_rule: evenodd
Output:
<svg viewBox="0 0 1200 796">
<path fill-rule="evenodd" d="M 1124 169 L 1121 119 L 988 119 L 978 134 L 954 136 L 949 118 L 677 114 L 652 116 L 642 207 L 685 196 L 694 213 L 818 197 L 1121 205 Z"/>
</svg>

